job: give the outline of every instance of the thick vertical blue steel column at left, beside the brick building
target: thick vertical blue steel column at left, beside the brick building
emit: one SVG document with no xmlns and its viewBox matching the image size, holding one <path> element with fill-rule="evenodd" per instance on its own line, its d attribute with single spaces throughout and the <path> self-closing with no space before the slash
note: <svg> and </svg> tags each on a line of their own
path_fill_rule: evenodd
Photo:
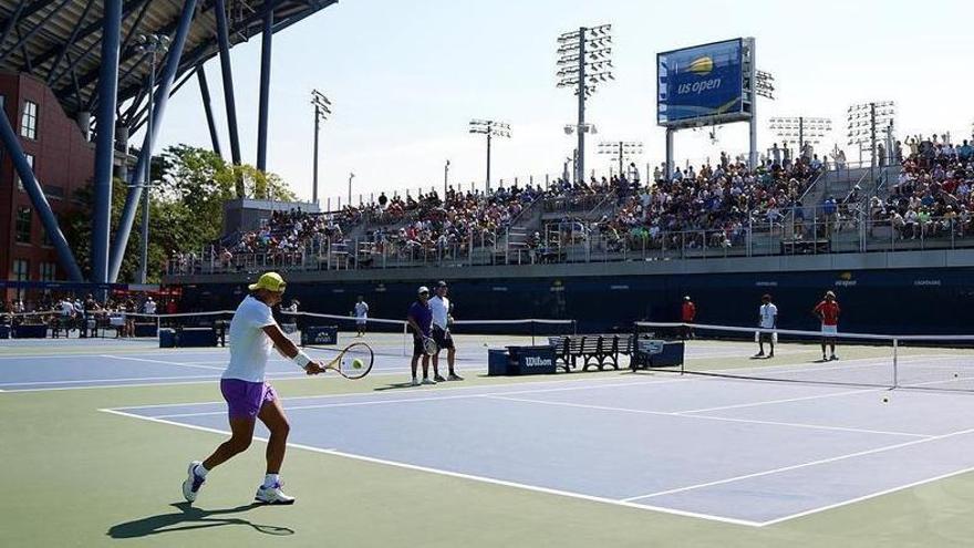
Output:
<svg viewBox="0 0 974 548">
<path fill-rule="evenodd" d="M 105 0 L 102 18 L 102 64 L 99 87 L 103 97 L 96 120 L 95 209 L 92 217 L 92 281 L 108 281 L 108 235 L 112 231 L 112 167 L 115 159 L 115 97 L 118 92 L 118 48 L 122 40 L 122 0 Z"/>
</svg>

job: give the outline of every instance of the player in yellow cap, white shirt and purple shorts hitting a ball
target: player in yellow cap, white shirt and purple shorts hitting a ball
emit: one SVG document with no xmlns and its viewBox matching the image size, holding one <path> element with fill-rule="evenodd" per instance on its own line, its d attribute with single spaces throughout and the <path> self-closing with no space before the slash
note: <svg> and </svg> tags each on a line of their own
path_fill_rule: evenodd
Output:
<svg viewBox="0 0 974 548">
<path fill-rule="evenodd" d="M 253 438 L 257 418 L 270 431 L 267 442 L 267 474 L 257 488 L 255 499 L 265 504 L 293 504 L 294 497 L 281 490 L 281 464 L 290 425 L 274 389 L 265 381 L 270 352 L 277 348 L 309 375 L 324 370 L 284 335 L 271 314 L 271 307 L 281 302 L 284 280 L 277 272 L 267 272 L 249 286 L 250 294 L 237 307 L 230 321 L 230 363 L 220 379 L 220 392 L 227 401 L 230 438 L 220 444 L 206 461 L 189 463 L 189 477 L 183 482 L 183 496 L 193 503 L 206 475 L 217 466 L 242 453 Z"/>
</svg>

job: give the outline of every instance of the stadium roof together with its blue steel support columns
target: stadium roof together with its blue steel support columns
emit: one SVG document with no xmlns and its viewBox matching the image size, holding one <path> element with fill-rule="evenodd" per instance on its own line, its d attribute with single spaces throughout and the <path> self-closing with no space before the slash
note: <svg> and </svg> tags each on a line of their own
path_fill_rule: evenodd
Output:
<svg viewBox="0 0 974 548">
<path fill-rule="evenodd" d="M 91 281 L 114 282 L 118 277 L 136 207 L 147 185 L 143 174 L 169 96 L 196 76 L 214 151 L 221 154 L 206 74 L 199 70 L 218 56 L 230 156 L 234 164 L 240 164 L 229 50 L 259 34 L 256 165 L 266 169 L 272 37 L 334 3 L 338 0 L 0 0 L 0 71 L 43 81 L 83 131 L 95 128 Z M 144 37 L 164 37 L 165 48 L 149 53 L 141 41 Z M 111 123 L 105 124 L 107 121 Z M 146 124 L 152 131 L 145 132 L 138 161 L 127 174 L 128 194 L 110 255 L 116 131 L 126 148 L 128 135 Z M 10 153 L 62 267 L 71 280 L 81 281 L 81 270 L 3 110 L 0 143 Z"/>
</svg>

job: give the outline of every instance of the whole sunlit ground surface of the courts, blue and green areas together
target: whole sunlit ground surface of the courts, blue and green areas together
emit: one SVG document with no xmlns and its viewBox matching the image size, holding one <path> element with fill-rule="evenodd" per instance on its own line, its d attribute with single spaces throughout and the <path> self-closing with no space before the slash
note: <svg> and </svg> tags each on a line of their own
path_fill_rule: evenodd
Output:
<svg viewBox="0 0 974 548">
<path fill-rule="evenodd" d="M 604 535 L 634 545 L 814 545 L 809 535 L 819 534 L 920 546 L 931 513 L 939 530 L 964 530 L 974 393 L 956 372 L 970 352 L 901 352 L 902 374 L 945 364 L 935 389 L 881 386 L 891 369 L 884 348 L 850 347 L 841 362 L 816 363 L 817 345 L 783 342 L 771 363 L 749 359 L 753 343 L 714 340 L 687 342 L 683 374 L 622 363 L 485 375 L 487 348 L 525 339 L 458 335 L 467 380 L 431 387 L 407 386 L 401 333 L 366 335 L 376 365 L 363 381 L 307 378 L 276 361 L 268 376 L 292 424 L 286 474 L 299 497 L 287 509 L 249 503 L 259 442 L 215 473 L 193 507 L 182 503 L 184 462 L 228 434 L 216 383 L 225 350 L 6 344 L 3 462 L 33 478 L 3 503 L 14 524 L 8 538 L 220 546 L 323 535 L 396 545 L 406 528 L 417 545 L 444 546 L 467 536 L 529 546 Z M 355 340 L 342 333 L 339 347 Z M 853 381 L 829 373 L 839 369 Z M 266 437 L 262 427 L 257 435 Z M 417 513 L 431 527 L 413 529 Z"/>
</svg>

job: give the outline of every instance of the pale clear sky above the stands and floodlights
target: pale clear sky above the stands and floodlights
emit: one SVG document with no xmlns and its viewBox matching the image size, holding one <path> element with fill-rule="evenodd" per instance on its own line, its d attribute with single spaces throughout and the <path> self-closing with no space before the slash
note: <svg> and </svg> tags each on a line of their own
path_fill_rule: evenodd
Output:
<svg viewBox="0 0 974 548">
<path fill-rule="evenodd" d="M 600 141 L 641 141 L 640 166 L 664 156 L 655 125 L 655 54 L 732 39 L 757 40 L 757 65 L 776 77 L 777 99 L 760 101 L 759 147 L 770 146 L 770 116 L 826 116 L 845 146 L 846 108 L 897 102 L 898 135 L 950 132 L 970 137 L 974 122 L 970 0 L 929 8 L 901 1 L 685 0 L 342 0 L 274 35 L 268 168 L 302 198 L 311 197 L 313 110 L 318 89 L 333 103 L 322 126 L 320 196 L 380 189 L 424 190 L 449 179 L 469 187 L 485 179 L 485 143 L 467 133 L 470 118 L 511 125 L 494 147 L 493 179 L 557 176 L 574 148 L 563 132 L 576 99 L 557 89 L 556 39 L 580 25 L 612 23 L 615 81 L 588 102 L 587 170 L 608 172 Z M 241 154 L 256 163 L 260 39 L 231 50 Z M 218 60 L 206 65 L 224 154 L 229 156 Z M 698 164 L 747 147 L 747 125 L 676 137 L 676 158 Z M 160 146 L 209 146 L 198 87 L 170 101 Z M 355 198 L 358 201 L 358 197 Z M 344 198 L 343 198 L 344 201 Z M 332 203 L 334 204 L 334 201 Z"/>
</svg>

